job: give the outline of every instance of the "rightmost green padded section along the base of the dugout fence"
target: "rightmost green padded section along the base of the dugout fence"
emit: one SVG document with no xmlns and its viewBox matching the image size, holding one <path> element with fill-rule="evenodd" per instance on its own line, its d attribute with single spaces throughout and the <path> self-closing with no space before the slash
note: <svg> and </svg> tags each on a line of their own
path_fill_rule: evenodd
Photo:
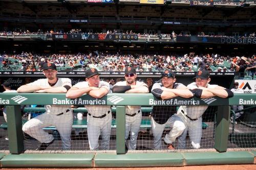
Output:
<svg viewBox="0 0 256 170">
<path fill-rule="evenodd" d="M 184 165 L 253 164 L 254 156 L 246 151 L 183 153 Z"/>
</svg>

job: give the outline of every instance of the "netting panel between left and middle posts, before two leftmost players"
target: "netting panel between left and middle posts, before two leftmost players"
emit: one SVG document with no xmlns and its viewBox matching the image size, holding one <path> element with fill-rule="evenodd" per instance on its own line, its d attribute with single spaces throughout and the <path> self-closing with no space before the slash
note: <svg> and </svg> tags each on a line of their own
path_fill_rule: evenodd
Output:
<svg viewBox="0 0 256 170">
<path fill-rule="evenodd" d="M 40 150 L 41 143 L 48 145 L 50 142 L 45 150 L 115 150 L 110 107 L 89 106 L 88 112 L 80 110 L 75 110 L 74 114 L 51 110 L 54 115 L 28 111 L 23 116 L 25 149 Z"/>
</svg>

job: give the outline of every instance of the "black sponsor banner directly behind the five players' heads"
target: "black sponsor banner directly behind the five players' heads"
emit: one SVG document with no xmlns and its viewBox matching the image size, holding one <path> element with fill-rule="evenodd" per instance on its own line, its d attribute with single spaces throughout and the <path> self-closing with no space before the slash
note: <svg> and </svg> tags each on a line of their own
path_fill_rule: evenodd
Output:
<svg viewBox="0 0 256 170">
<path fill-rule="evenodd" d="M 7 73 L 7 71 L 5 71 Z M 23 71 L 19 71 L 19 73 Z M 0 84 L 4 82 L 9 82 L 12 89 L 17 89 L 18 87 L 36 81 L 37 79 L 44 79 L 45 76 L 41 71 L 29 72 L 31 74 L 15 74 L 15 71 L 8 72 L 9 74 L 1 75 L 0 72 Z M 33 73 L 33 74 L 32 74 Z M 124 72 L 115 72 L 115 71 L 99 71 L 100 80 L 105 81 L 107 78 L 113 79 L 115 82 L 122 81 L 124 79 Z M 161 77 L 161 72 L 137 72 L 138 81 L 143 81 L 147 84 L 151 90 L 154 83 L 158 82 Z M 211 72 L 211 81 L 210 84 L 218 84 L 225 88 L 230 88 L 230 85 L 233 84 L 232 80 L 234 79 L 235 74 L 233 72 L 227 73 L 217 73 Z M 85 71 L 58 71 L 58 77 L 69 78 L 71 79 L 72 85 L 77 84 L 78 82 L 85 81 Z M 176 72 L 177 82 L 184 85 L 188 85 L 195 81 L 195 72 Z M 228 82 L 228 83 L 226 83 Z M 251 87 L 252 88 L 252 87 Z M 4 91 L 3 86 L 0 86 L 0 92 Z"/>
</svg>

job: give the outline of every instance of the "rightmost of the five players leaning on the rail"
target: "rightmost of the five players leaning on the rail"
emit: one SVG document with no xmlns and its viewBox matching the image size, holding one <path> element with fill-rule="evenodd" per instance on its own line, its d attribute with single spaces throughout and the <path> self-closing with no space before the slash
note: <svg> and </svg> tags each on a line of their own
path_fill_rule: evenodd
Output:
<svg viewBox="0 0 256 170">
<path fill-rule="evenodd" d="M 219 96 L 220 98 L 230 98 L 233 96 L 232 91 L 218 85 L 211 85 L 210 74 L 207 70 L 200 70 L 197 72 L 196 82 L 187 85 L 189 89 L 197 89 L 198 98 L 211 98 Z M 185 148 L 185 139 L 187 131 L 194 149 L 200 148 L 200 141 L 202 137 L 202 115 L 208 106 L 181 106 L 177 114 L 184 122 L 186 129 L 178 138 L 178 149 Z"/>
</svg>

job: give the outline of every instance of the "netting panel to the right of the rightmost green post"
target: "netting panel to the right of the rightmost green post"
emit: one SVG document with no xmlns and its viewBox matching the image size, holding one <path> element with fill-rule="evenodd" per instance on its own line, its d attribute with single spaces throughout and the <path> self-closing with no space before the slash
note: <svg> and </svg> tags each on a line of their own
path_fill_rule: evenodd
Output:
<svg viewBox="0 0 256 170">
<path fill-rule="evenodd" d="M 230 149 L 256 147 L 256 106 L 232 106 L 229 125 Z"/>
</svg>

